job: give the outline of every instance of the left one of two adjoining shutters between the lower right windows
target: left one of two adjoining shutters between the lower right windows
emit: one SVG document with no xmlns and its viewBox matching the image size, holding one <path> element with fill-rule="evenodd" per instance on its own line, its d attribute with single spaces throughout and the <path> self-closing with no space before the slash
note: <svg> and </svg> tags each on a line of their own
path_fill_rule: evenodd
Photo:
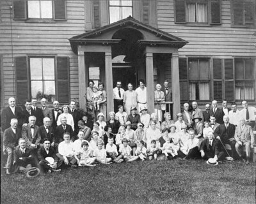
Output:
<svg viewBox="0 0 256 204">
<path fill-rule="evenodd" d="M 222 59 L 213 59 L 213 99 L 222 101 Z"/>
</svg>

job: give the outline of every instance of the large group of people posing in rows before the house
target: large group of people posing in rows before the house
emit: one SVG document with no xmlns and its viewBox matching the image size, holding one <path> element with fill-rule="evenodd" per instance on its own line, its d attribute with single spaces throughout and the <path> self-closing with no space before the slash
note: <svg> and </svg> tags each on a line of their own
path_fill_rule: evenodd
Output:
<svg viewBox="0 0 256 204">
<path fill-rule="evenodd" d="M 120 82 L 117 85 L 120 86 Z M 99 86 L 102 91 L 104 84 Z M 132 85 L 129 86 L 132 90 Z M 118 89 L 115 92 L 119 95 Z M 255 144 L 256 111 L 248 107 L 246 101 L 242 102 L 240 111 L 236 103 L 232 103 L 230 110 L 227 101 L 223 101 L 220 108 L 214 100 L 211 105 L 205 105 L 204 111 L 198 108 L 196 101 L 192 102 L 191 110 L 189 104 L 184 103 L 177 120 L 172 120 L 165 111 L 161 122 L 157 112 L 147 113 L 143 101 L 137 101 L 137 106 L 126 103 L 132 93 L 120 92 L 124 93 L 123 104 L 119 104 L 121 100 L 115 102 L 118 106 L 116 112 L 109 112 L 109 120 L 100 112 L 94 121 L 77 110 L 75 101 L 62 108 L 54 101 L 50 109 L 45 98 L 41 99 L 40 108 L 32 98 L 25 101 L 22 110 L 15 106 L 15 98 L 9 98 L 9 106 L 1 113 L 6 174 L 12 173 L 13 166 L 20 172 L 38 166 L 40 171 L 51 173 L 60 171 L 63 166 L 93 166 L 137 159 L 178 157 L 223 161 L 229 155 L 227 144 L 231 147 L 231 157 L 249 163 L 250 148 Z M 243 146 L 246 157 L 243 157 Z"/>
</svg>

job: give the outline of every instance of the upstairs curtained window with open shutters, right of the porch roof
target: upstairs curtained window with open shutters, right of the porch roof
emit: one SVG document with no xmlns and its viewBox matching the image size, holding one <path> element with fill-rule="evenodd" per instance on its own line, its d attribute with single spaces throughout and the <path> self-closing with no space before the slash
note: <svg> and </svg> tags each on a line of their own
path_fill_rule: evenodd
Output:
<svg viewBox="0 0 256 204">
<path fill-rule="evenodd" d="M 221 0 L 175 0 L 175 23 L 221 24 Z"/>
</svg>

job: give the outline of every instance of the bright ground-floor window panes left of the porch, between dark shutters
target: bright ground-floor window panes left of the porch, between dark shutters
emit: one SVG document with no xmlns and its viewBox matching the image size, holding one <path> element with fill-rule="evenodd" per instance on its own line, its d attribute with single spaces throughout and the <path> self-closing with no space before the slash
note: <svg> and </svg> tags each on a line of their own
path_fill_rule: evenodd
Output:
<svg viewBox="0 0 256 204">
<path fill-rule="evenodd" d="M 30 58 L 31 96 L 48 101 L 56 99 L 54 58 Z"/>
</svg>

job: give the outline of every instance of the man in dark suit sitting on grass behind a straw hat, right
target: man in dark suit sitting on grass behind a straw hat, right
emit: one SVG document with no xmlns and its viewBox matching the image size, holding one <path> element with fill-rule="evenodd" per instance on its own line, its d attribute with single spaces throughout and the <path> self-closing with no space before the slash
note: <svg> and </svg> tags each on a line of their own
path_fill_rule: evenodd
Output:
<svg viewBox="0 0 256 204">
<path fill-rule="evenodd" d="M 216 161 L 222 160 L 224 152 L 221 151 L 220 143 L 216 142 L 212 132 L 207 134 L 200 147 L 201 157 L 204 159 L 214 158 Z"/>
</svg>

